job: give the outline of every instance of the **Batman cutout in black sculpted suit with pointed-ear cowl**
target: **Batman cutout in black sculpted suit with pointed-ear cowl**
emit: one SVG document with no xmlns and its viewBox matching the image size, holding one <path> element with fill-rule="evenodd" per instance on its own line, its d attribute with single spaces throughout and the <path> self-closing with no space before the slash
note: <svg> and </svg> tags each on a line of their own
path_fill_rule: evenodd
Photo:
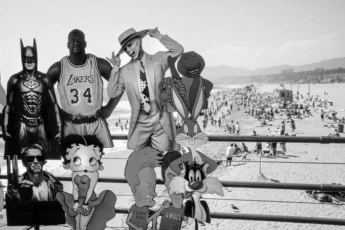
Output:
<svg viewBox="0 0 345 230">
<path fill-rule="evenodd" d="M 53 83 L 48 75 L 37 71 L 36 40 L 33 47 L 24 47 L 21 39 L 20 45 L 23 70 L 7 82 L 7 105 L 1 115 L 4 158 L 13 155 L 20 158 L 22 148 L 38 143 L 45 150 L 46 159 L 60 160 L 62 116 Z"/>
</svg>

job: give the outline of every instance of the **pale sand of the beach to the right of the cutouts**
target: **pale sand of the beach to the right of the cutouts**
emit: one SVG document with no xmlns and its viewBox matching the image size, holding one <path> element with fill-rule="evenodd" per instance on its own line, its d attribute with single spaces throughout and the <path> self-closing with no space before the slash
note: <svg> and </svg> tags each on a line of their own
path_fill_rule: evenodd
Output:
<svg viewBox="0 0 345 230">
<path fill-rule="evenodd" d="M 272 88 L 273 86 L 273 88 Z M 335 89 L 336 86 L 336 90 Z M 277 86 L 275 86 L 277 87 Z M 274 85 L 263 85 L 259 90 L 272 91 Z M 297 86 L 294 86 L 297 88 Z M 299 85 L 299 92 L 306 96 L 308 85 Z M 316 88 L 317 87 L 317 88 Z M 311 85 L 311 95 L 318 94 L 321 98 L 329 101 L 334 101 L 334 106 L 329 106 L 335 111 L 339 111 L 343 104 L 343 92 L 341 88 L 343 85 L 331 84 L 327 85 Z M 289 86 L 287 87 L 290 88 Z M 333 89 L 333 91 L 331 91 Z M 294 89 L 293 89 L 294 90 Z M 328 92 L 328 96 L 323 97 L 323 91 Z M 294 91 L 296 92 L 296 91 Z M 305 97 L 304 97 L 305 98 Z M 243 108 L 240 107 L 241 109 Z M 226 107 L 222 107 L 220 112 L 226 114 Z M 313 111 L 313 110 L 312 110 Z M 320 111 L 320 109 L 319 109 Z M 301 111 L 302 112 L 302 111 Z M 241 125 L 240 135 L 250 135 L 255 130 L 257 134 L 279 136 L 278 127 L 286 116 L 275 116 L 273 126 L 258 127 L 260 122 L 249 116 L 245 116 L 244 110 L 233 111 L 230 115 L 226 115 L 227 123 L 230 120 L 234 122 L 239 121 Z M 338 114 L 342 114 L 338 112 Z M 332 120 L 325 120 L 321 122 L 320 115 L 312 112 L 312 117 L 303 120 L 296 120 L 296 136 L 322 136 L 334 129 L 328 129 L 323 125 Z M 217 116 L 219 117 L 219 116 Z M 293 116 L 294 118 L 295 116 Z M 200 122 L 199 122 L 200 123 Z M 209 135 L 228 135 L 224 132 L 226 122 L 222 123 L 222 128 L 217 126 L 207 126 L 206 132 Z M 270 129 L 270 130 L 268 130 Z M 290 124 L 286 124 L 286 131 L 291 132 Z M 340 134 L 344 136 L 343 133 Z M 200 150 L 207 153 L 208 156 L 214 160 L 225 160 L 225 150 L 229 143 L 224 142 L 208 142 Z M 240 144 L 240 143 L 237 143 Z M 246 143 L 249 150 L 254 149 L 254 142 Z M 263 147 L 265 143 L 263 143 Z M 278 145 L 279 146 L 279 145 Z M 287 143 L 287 152 L 285 156 L 281 153 L 282 149 L 277 148 L 277 158 L 272 156 L 265 156 L 263 161 L 292 161 L 292 162 L 344 162 L 343 145 L 341 144 L 312 144 L 312 143 Z M 307 153 L 306 153 L 307 152 Z M 259 177 L 259 163 L 250 162 L 258 161 L 260 157 L 256 157 L 256 153 L 249 154 L 245 162 L 233 162 L 230 167 L 219 166 L 210 176 L 217 177 L 220 180 L 231 181 L 262 181 L 262 182 L 289 182 L 289 183 L 344 183 L 342 175 L 344 174 L 344 167 L 337 164 L 293 164 L 293 163 L 262 163 L 261 172 L 268 179 L 264 180 Z M 259 154 L 260 156 L 260 154 Z M 315 158 L 318 158 L 315 160 Z M 242 154 L 238 157 L 233 157 L 233 160 L 241 160 Z M 216 195 L 205 196 L 208 198 L 220 198 Z M 246 189 L 246 188 L 224 188 L 224 197 L 230 200 L 207 200 L 210 210 L 215 212 L 232 212 L 230 204 L 234 204 L 240 208 L 241 213 L 253 214 L 272 214 L 272 215 L 287 215 L 287 216 L 308 216 L 308 217 L 325 217 L 325 218 L 343 218 L 344 207 L 318 203 L 316 200 L 309 198 L 304 191 L 300 190 L 275 190 L 275 189 Z M 233 199 L 233 200 L 231 200 Z M 282 203 L 282 202 L 257 202 L 257 201 L 240 201 L 243 200 L 269 200 L 269 201 L 294 201 L 294 202 L 310 202 L 304 203 Z M 231 224 L 231 228 L 229 228 Z M 185 229 L 194 229 L 193 221 L 184 223 Z M 217 220 L 212 219 L 211 224 L 199 229 L 343 229 L 340 226 L 324 226 L 319 224 L 300 224 L 300 223 L 285 223 L 285 222 L 266 222 L 266 221 L 244 221 L 244 220 Z"/>
</svg>

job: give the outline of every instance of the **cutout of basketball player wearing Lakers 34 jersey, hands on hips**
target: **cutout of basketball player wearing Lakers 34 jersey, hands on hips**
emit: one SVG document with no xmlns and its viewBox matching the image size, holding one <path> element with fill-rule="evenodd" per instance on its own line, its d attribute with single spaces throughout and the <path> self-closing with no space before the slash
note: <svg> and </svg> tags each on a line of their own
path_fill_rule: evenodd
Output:
<svg viewBox="0 0 345 230">
<path fill-rule="evenodd" d="M 86 53 L 85 34 L 78 29 L 68 34 L 69 56 L 63 57 L 48 69 L 48 76 L 58 82 L 61 107 L 65 112 L 67 134 L 96 135 L 104 148 L 114 147 L 106 119 L 119 102 L 110 98 L 103 101 L 103 81 L 109 80 L 112 67 L 108 61 Z"/>
</svg>

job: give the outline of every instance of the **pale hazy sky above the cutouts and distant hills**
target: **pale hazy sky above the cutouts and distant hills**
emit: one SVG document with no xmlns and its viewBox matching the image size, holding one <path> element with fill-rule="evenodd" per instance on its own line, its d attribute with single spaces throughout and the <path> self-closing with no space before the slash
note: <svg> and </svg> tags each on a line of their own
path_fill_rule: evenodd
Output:
<svg viewBox="0 0 345 230">
<path fill-rule="evenodd" d="M 256 69 L 345 56 L 345 1 L 0 1 L 1 82 L 21 70 L 20 43 L 36 38 L 38 70 L 68 55 L 67 35 L 86 35 L 86 52 L 110 57 L 133 27 L 158 29 L 204 57 L 206 66 Z M 145 37 L 144 50 L 164 47 Z M 121 55 L 122 64 L 128 62 Z"/>
</svg>

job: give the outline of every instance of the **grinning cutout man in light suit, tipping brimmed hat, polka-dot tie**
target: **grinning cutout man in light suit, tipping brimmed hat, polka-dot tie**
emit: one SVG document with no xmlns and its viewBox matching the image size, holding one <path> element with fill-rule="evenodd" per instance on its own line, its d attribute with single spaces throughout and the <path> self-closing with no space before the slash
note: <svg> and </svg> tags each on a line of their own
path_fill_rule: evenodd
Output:
<svg viewBox="0 0 345 230">
<path fill-rule="evenodd" d="M 142 49 L 142 38 L 146 35 L 158 39 L 169 51 L 154 55 Z M 114 68 L 108 82 L 108 96 L 115 98 L 124 90 L 131 106 L 127 148 L 142 148 L 151 143 L 161 151 L 179 150 L 175 142 L 177 135 L 174 117 L 171 112 L 159 108 L 158 89 L 160 81 L 168 70 L 168 56 L 179 57 L 183 47 L 167 35 L 155 29 L 137 32 L 130 28 L 119 36 L 120 51 L 107 58 Z M 127 53 L 131 60 L 120 69 L 120 54 Z"/>
</svg>

